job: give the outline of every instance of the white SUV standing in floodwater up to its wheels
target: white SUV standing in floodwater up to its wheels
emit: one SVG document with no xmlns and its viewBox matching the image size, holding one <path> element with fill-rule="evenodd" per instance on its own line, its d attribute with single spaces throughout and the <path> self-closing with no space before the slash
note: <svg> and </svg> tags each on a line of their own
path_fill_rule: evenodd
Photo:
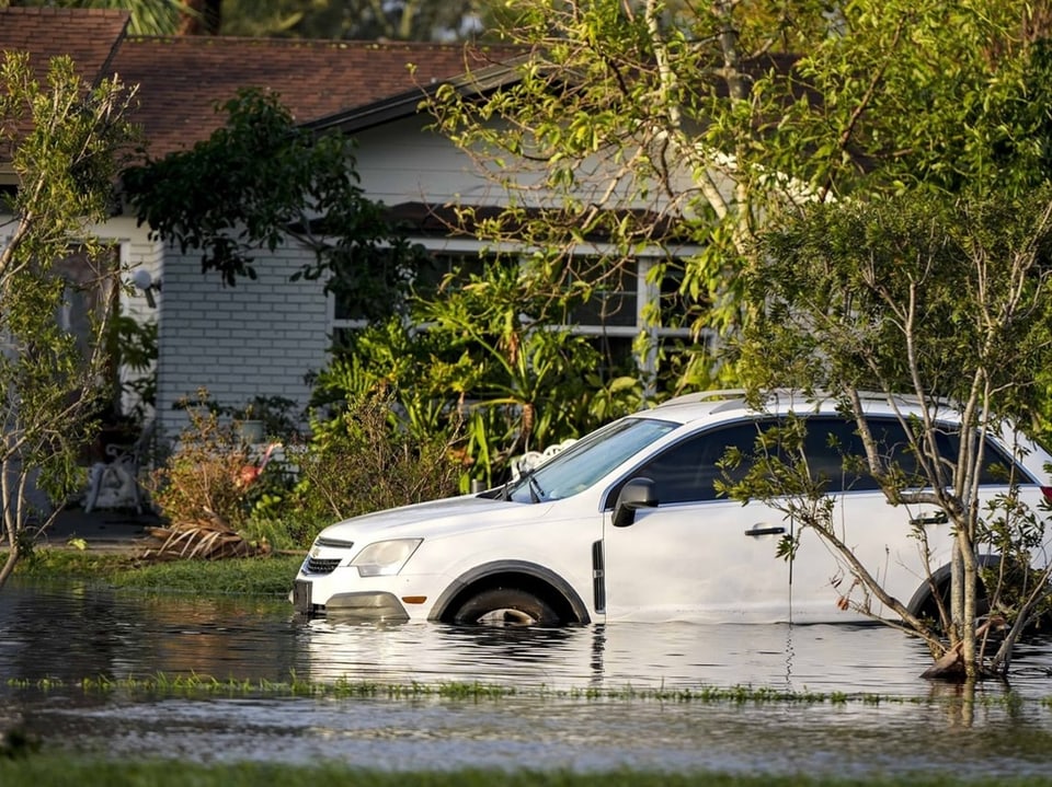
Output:
<svg viewBox="0 0 1052 787">
<path fill-rule="evenodd" d="M 874 437 L 907 464 L 894 409 L 882 397 L 867 406 Z M 899 408 L 919 412 L 905 400 Z M 834 402 L 779 394 L 757 412 L 740 392 L 683 396 L 621 418 L 503 487 L 333 524 L 315 540 L 293 603 L 304 614 L 450 623 L 864 620 L 837 604 L 845 571 L 813 532 L 800 534 L 793 560 L 782 559 L 778 542 L 791 520 L 713 488 L 728 447 L 750 452 L 758 431 L 788 413 L 808 419 L 809 464 L 830 481 L 838 535 L 922 612 L 930 586 L 914 530 L 926 530 L 938 579 L 950 554 L 945 517 L 890 506 L 871 478 L 845 470 L 860 441 Z M 944 415 L 940 450 L 956 456 L 953 414 Z M 1015 439 L 988 440 L 988 464 L 1002 472 L 984 474 L 982 497 L 1007 491 L 1004 471 L 1015 465 L 1022 501 L 1037 510 L 1052 497 L 1041 481 L 1052 456 L 1031 443 L 1019 451 Z"/>
</svg>

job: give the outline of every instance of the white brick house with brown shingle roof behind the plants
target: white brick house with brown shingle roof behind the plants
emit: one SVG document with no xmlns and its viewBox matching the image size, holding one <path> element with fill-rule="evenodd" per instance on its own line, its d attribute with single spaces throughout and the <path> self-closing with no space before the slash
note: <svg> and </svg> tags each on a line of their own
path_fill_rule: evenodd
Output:
<svg viewBox="0 0 1052 787">
<path fill-rule="evenodd" d="M 436 209 L 460 202 L 500 205 L 501 195 L 474 172 L 467 157 L 419 111 L 428 85 L 477 71 L 460 45 L 137 37 L 122 11 L 0 9 L 0 50 L 25 49 L 36 68 L 59 54 L 72 56 L 89 81 L 118 76 L 139 85 L 133 119 L 145 129 L 150 155 L 186 149 L 222 123 L 218 103 L 241 88 L 276 91 L 295 118 L 318 130 L 352 134 L 366 196 L 400 216 L 418 219 L 419 240 L 443 255 L 476 256 L 480 244 L 449 238 L 428 225 Z M 491 72 L 502 57 L 491 50 Z M 411 72 L 409 63 L 415 66 Z M 505 69 L 506 72 L 506 69 Z M 14 186 L 0 161 L 0 187 Z M 0 243 L 4 217 L 0 215 Z M 261 254 L 259 278 L 224 287 L 203 275 L 199 257 L 151 239 L 123 212 L 99 228 L 135 271 L 138 289 L 122 296 L 126 313 L 159 326 L 158 432 L 178 433 L 185 415 L 173 408 L 202 387 L 237 406 L 256 395 L 306 403 L 305 375 L 327 361 L 332 333 L 347 325 L 317 281 L 289 281 L 309 252 L 287 245 Z M 618 293 L 628 308 L 618 325 L 583 325 L 629 344 L 642 322 L 643 303 L 656 291 L 645 265 Z"/>
</svg>

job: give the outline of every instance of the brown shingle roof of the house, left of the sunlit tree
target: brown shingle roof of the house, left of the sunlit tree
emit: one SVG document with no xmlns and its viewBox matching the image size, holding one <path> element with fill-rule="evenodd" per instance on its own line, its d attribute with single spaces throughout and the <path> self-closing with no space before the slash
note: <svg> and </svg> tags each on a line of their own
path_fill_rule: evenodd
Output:
<svg viewBox="0 0 1052 787">
<path fill-rule="evenodd" d="M 482 65 L 461 45 L 130 37 L 127 20 L 124 11 L 0 9 L 0 50 L 30 50 L 37 68 L 69 54 L 89 81 L 116 73 L 138 84 L 134 119 L 155 158 L 207 138 L 225 120 L 216 105 L 239 88 L 277 92 L 296 120 L 307 123 Z"/>
</svg>

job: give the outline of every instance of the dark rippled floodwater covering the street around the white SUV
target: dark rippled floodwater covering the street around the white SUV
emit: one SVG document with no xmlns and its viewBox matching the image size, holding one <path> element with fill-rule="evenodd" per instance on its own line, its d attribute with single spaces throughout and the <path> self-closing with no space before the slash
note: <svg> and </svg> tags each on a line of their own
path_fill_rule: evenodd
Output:
<svg viewBox="0 0 1052 787">
<path fill-rule="evenodd" d="M 971 776 L 1050 773 L 1052 640 L 1025 644 L 1009 683 L 983 684 L 974 696 L 921 679 L 927 666 L 922 645 L 883 626 L 373 626 L 298 621 L 283 600 L 0 590 L 0 731 L 22 727 L 53 751 L 844 777 L 962 773 L 964 759 Z M 134 679 L 159 675 L 271 688 L 295 678 L 518 691 L 362 697 L 136 687 Z M 112 687 L 100 690 L 99 679 Z M 651 691 L 735 686 L 824 697 L 707 702 Z M 636 698 L 627 698 L 631 690 Z"/>
</svg>

